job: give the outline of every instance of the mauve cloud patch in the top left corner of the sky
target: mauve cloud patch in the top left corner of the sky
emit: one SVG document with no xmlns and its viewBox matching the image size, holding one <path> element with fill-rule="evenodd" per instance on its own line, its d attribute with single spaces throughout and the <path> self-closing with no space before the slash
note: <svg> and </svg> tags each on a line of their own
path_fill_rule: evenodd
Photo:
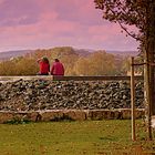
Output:
<svg viewBox="0 0 155 155">
<path fill-rule="evenodd" d="M 37 0 L 3 0 L 0 4 L 0 25 L 14 27 L 38 21 L 41 8 Z"/>
</svg>

